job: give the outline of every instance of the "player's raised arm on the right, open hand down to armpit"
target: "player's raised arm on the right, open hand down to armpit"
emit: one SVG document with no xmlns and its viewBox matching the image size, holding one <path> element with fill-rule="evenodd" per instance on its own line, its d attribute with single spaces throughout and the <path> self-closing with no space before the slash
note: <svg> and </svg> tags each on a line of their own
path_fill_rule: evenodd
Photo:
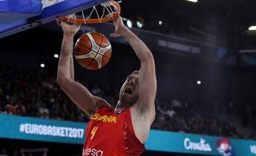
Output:
<svg viewBox="0 0 256 156">
<path fill-rule="evenodd" d="M 139 111 L 145 115 L 150 124 L 155 118 L 155 96 L 156 96 L 156 74 L 155 62 L 150 49 L 130 31 L 122 22 L 122 18 L 113 20 L 116 27 L 116 33 L 111 36 L 124 36 L 130 46 L 140 59 L 140 76 L 139 76 Z"/>
</svg>

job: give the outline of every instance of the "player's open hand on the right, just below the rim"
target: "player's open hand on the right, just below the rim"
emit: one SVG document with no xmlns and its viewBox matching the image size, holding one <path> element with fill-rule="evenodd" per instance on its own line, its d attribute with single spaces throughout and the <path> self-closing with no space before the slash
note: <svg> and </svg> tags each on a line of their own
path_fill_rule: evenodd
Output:
<svg viewBox="0 0 256 156">
<path fill-rule="evenodd" d="M 119 37 L 120 35 L 122 35 L 122 33 L 124 32 L 124 30 L 127 28 L 124 25 L 124 22 L 122 22 L 122 17 L 120 15 L 118 15 L 117 18 L 113 18 L 111 16 L 111 14 L 106 15 L 106 17 L 108 17 L 109 19 L 112 20 L 114 27 L 116 28 L 116 32 L 111 34 L 111 37 Z"/>
</svg>

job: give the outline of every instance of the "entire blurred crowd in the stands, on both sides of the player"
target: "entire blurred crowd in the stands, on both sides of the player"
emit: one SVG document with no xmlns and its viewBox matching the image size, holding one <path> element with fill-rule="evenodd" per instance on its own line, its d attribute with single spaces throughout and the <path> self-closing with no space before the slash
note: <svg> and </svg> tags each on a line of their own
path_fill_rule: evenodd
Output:
<svg viewBox="0 0 256 156">
<path fill-rule="evenodd" d="M 80 83 L 109 104 L 117 103 L 118 88 L 109 88 L 103 84 L 89 86 L 84 81 Z M 87 115 L 72 104 L 69 97 L 61 91 L 56 79 L 43 71 L 0 67 L 0 86 L 0 113 L 2 114 L 71 121 L 89 120 Z M 156 118 L 152 128 L 242 138 L 235 126 L 217 117 L 203 115 L 189 108 L 187 102 L 182 104 L 175 99 L 171 102 L 156 100 Z"/>
</svg>

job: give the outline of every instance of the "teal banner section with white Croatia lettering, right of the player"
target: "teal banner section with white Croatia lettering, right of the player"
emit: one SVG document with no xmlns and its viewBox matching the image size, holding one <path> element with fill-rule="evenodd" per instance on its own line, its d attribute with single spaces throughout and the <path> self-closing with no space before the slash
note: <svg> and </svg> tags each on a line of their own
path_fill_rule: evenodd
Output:
<svg viewBox="0 0 256 156">
<path fill-rule="evenodd" d="M 229 142 L 226 150 L 221 146 L 225 141 Z M 146 147 L 148 150 L 187 154 L 228 155 L 232 151 L 234 154 L 229 156 L 256 155 L 256 141 L 157 130 L 150 131 Z"/>
</svg>

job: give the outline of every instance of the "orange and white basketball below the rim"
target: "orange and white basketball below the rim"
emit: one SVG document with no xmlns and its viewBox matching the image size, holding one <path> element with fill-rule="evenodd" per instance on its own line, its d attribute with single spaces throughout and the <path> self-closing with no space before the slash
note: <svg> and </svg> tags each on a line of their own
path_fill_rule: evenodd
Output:
<svg viewBox="0 0 256 156">
<path fill-rule="evenodd" d="M 104 67 L 108 64 L 111 54 L 111 44 L 101 33 L 85 33 L 75 43 L 75 59 L 83 68 L 89 70 Z"/>
</svg>

